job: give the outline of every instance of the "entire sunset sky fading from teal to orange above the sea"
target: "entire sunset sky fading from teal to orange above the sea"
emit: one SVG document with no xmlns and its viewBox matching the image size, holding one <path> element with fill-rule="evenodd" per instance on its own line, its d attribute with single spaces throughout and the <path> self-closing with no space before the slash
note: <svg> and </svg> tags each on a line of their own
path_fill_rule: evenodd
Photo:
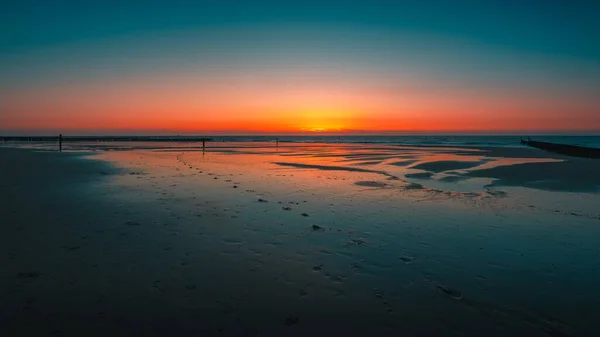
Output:
<svg viewBox="0 0 600 337">
<path fill-rule="evenodd" d="M 600 1 L 0 4 L 0 135 L 600 132 Z"/>
</svg>

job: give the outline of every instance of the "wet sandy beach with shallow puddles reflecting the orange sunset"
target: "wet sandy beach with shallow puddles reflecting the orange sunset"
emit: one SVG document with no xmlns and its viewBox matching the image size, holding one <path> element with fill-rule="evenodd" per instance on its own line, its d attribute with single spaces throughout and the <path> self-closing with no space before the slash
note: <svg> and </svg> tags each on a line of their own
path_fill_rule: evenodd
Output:
<svg viewBox="0 0 600 337">
<path fill-rule="evenodd" d="M 594 336 L 600 161 L 0 148 L 3 336 Z"/>
</svg>

